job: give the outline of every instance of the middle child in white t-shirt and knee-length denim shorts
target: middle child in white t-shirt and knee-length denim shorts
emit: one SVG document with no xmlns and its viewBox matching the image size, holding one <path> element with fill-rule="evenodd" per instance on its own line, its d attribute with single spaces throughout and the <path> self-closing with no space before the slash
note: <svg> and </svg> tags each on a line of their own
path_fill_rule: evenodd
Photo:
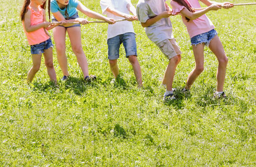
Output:
<svg viewBox="0 0 256 167">
<path fill-rule="evenodd" d="M 128 21 L 117 22 L 114 25 L 108 25 L 108 59 L 110 69 L 115 78 L 119 75 L 117 59 L 119 58 L 120 44 L 123 43 L 126 51 L 126 57 L 133 67 L 138 87 L 142 86 L 142 77 L 140 65 L 137 60 L 137 48 L 135 41 L 135 33 L 131 21 L 138 20 L 135 7 L 130 0 L 100 0 L 102 13 L 107 17 L 118 19 L 126 19 Z M 130 15 L 130 13 L 133 14 Z M 130 22 L 129 22 L 130 21 Z"/>
</svg>

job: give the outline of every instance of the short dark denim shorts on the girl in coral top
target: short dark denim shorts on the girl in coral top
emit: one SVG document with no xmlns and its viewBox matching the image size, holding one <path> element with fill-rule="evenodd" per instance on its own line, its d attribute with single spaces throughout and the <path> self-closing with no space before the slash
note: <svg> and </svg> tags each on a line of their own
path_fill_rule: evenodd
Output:
<svg viewBox="0 0 256 167">
<path fill-rule="evenodd" d="M 31 45 L 30 51 L 31 51 L 31 54 L 40 55 L 44 53 L 44 50 L 49 49 L 51 47 L 53 47 L 53 44 L 52 44 L 51 38 L 49 38 L 46 41 L 41 42 L 39 44 Z"/>
</svg>

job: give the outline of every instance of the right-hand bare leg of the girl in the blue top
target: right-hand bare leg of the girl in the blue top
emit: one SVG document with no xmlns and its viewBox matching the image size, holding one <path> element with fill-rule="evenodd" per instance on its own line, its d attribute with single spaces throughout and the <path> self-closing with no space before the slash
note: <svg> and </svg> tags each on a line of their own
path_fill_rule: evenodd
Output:
<svg viewBox="0 0 256 167">
<path fill-rule="evenodd" d="M 77 62 L 81 67 L 81 70 L 84 74 L 84 78 L 89 76 L 88 63 L 85 53 L 82 47 L 82 39 L 81 39 L 81 28 L 80 27 L 72 27 L 67 28 L 67 33 L 70 39 L 72 50 L 77 58 Z"/>
</svg>

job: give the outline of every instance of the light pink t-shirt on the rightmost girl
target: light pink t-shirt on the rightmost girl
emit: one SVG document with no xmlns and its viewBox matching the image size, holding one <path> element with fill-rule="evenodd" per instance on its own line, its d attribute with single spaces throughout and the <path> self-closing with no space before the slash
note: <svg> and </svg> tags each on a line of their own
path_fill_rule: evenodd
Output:
<svg viewBox="0 0 256 167">
<path fill-rule="evenodd" d="M 190 3 L 192 8 L 201 7 L 198 0 L 187 0 L 187 1 Z M 173 0 L 171 1 L 171 6 L 172 6 L 173 13 L 180 12 L 182 9 L 185 8 L 185 6 L 182 6 Z M 199 35 L 201 33 L 208 32 L 215 28 L 213 23 L 205 14 L 198 17 L 197 19 L 190 20 L 189 22 L 186 20 L 185 16 L 182 16 L 182 21 L 187 27 L 190 38 L 192 38 L 193 36 Z"/>
</svg>

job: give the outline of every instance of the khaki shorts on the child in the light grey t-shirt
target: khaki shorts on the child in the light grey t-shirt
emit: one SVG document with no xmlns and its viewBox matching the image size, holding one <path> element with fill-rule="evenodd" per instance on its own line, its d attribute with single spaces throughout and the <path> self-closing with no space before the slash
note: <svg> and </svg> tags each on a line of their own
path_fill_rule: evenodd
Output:
<svg viewBox="0 0 256 167">
<path fill-rule="evenodd" d="M 174 56 L 182 54 L 180 47 L 174 38 L 165 39 L 162 42 L 160 42 L 157 46 L 160 48 L 163 55 L 168 58 L 168 60 Z"/>
</svg>

